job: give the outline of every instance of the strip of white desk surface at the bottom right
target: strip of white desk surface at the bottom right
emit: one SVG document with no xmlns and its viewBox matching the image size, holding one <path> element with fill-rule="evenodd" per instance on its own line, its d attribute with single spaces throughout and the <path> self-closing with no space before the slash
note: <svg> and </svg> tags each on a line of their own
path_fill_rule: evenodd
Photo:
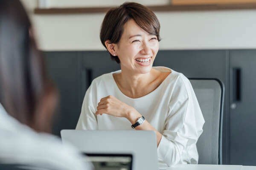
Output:
<svg viewBox="0 0 256 170">
<path fill-rule="evenodd" d="M 177 164 L 172 167 L 159 167 L 159 170 L 256 170 L 256 166 L 212 165 L 212 164 Z"/>
</svg>

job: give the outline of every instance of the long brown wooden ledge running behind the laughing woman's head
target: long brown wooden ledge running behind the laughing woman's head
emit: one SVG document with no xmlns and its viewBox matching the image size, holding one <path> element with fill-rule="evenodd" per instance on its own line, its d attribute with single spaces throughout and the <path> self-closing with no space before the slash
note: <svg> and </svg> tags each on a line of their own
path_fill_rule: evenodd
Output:
<svg viewBox="0 0 256 170">
<path fill-rule="evenodd" d="M 35 8 L 35 14 L 86 14 L 105 13 L 113 7 L 94 8 Z M 209 5 L 166 5 L 148 6 L 152 11 L 213 11 L 256 9 L 256 3 L 209 4 Z"/>
</svg>

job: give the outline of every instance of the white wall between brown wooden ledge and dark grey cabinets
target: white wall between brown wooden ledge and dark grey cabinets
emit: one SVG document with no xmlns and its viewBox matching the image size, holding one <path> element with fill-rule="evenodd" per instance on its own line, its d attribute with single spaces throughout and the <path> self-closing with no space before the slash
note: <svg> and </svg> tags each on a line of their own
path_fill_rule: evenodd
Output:
<svg viewBox="0 0 256 170">
<path fill-rule="evenodd" d="M 23 2 L 26 5 L 31 0 Z M 31 13 L 30 16 L 41 50 L 90 51 L 104 49 L 99 40 L 104 15 Z M 256 10 L 156 12 L 156 15 L 161 24 L 162 50 L 256 48 Z"/>
</svg>

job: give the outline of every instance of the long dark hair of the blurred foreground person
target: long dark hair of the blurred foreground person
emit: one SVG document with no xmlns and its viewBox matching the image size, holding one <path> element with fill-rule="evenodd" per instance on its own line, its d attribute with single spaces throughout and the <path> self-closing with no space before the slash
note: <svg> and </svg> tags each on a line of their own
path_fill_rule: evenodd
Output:
<svg viewBox="0 0 256 170">
<path fill-rule="evenodd" d="M 43 58 L 19 0 L 0 0 L 0 102 L 29 125 L 47 89 Z"/>
</svg>

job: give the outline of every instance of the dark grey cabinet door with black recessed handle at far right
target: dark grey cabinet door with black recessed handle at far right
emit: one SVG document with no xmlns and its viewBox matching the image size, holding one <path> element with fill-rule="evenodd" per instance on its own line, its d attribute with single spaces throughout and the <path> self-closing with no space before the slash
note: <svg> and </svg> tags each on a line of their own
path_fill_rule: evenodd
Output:
<svg viewBox="0 0 256 170">
<path fill-rule="evenodd" d="M 230 164 L 256 165 L 256 50 L 230 51 Z"/>
</svg>

